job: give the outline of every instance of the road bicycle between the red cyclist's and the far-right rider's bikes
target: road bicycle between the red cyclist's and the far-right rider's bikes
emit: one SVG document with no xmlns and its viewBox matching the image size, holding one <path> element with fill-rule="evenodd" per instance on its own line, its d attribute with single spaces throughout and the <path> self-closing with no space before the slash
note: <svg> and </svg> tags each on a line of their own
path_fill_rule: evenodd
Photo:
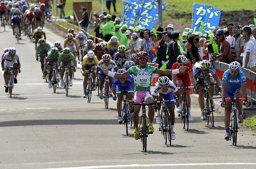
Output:
<svg viewBox="0 0 256 169">
<path fill-rule="evenodd" d="M 207 125 L 209 124 L 209 122 L 211 123 L 211 126 L 214 126 L 214 117 L 213 117 L 213 103 L 210 99 L 210 95 L 209 95 L 209 85 L 216 85 L 218 86 L 217 83 L 210 83 L 210 84 L 201 84 L 198 86 L 203 86 L 204 89 L 204 98 L 205 100 L 205 107 L 204 107 L 204 114 L 205 114 L 205 118 L 207 120 Z"/>
</svg>

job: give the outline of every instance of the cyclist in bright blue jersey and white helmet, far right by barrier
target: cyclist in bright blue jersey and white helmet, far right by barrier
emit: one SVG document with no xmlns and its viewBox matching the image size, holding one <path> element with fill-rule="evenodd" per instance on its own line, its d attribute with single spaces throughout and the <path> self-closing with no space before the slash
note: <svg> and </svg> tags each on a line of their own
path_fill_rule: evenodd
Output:
<svg viewBox="0 0 256 169">
<path fill-rule="evenodd" d="M 246 87 L 246 77 L 244 72 L 241 70 L 241 65 L 239 62 L 234 61 L 229 65 L 229 69 L 227 69 L 222 76 L 222 98 L 223 102 L 225 98 L 246 98 L 247 104 L 245 107 L 248 107 L 247 100 L 247 87 Z M 222 103 L 223 103 L 222 102 Z M 225 107 L 225 115 L 224 115 L 224 123 L 226 134 L 224 138 L 228 141 L 230 138 L 230 113 L 232 110 L 232 102 L 227 100 L 225 101 L 226 105 L 221 104 L 222 107 Z M 236 106 L 238 109 L 238 121 L 242 123 L 244 121 L 242 115 L 242 102 L 241 100 L 236 101 Z"/>
</svg>

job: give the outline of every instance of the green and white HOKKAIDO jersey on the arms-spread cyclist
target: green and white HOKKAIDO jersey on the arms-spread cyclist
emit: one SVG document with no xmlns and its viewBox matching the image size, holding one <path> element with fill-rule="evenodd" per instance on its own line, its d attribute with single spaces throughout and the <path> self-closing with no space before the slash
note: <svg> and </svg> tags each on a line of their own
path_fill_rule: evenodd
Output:
<svg viewBox="0 0 256 169">
<path fill-rule="evenodd" d="M 137 65 L 127 71 L 134 75 L 135 91 L 150 91 L 153 73 L 157 72 L 156 67 L 146 65 L 144 69 L 141 69 L 140 65 Z"/>
</svg>

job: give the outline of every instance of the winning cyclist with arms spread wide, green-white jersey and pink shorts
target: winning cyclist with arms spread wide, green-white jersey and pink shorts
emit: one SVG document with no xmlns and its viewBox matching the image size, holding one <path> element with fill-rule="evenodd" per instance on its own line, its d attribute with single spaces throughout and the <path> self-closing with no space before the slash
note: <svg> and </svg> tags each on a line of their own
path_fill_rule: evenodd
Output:
<svg viewBox="0 0 256 169">
<path fill-rule="evenodd" d="M 147 65 L 148 54 L 145 51 L 138 52 L 137 60 L 138 60 L 139 65 L 132 66 L 130 69 L 128 69 L 128 71 L 125 71 L 124 73 L 113 73 L 111 71 L 108 71 L 107 68 L 102 68 L 102 71 L 111 77 L 122 78 L 122 77 L 126 77 L 130 74 L 134 74 L 134 79 L 135 79 L 134 101 L 135 101 L 135 103 L 142 103 L 142 100 L 144 100 L 146 103 L 154 103 L 154 99 L 151 96 L 151 92 L 150 92 L 153 73 L 177 74 L 177 73 L 183 73 L 186 70 L 186 66 L 181 66 L 179 69 L 176 69 L 176 70 L 160 70 L 154 66 Z M 138 127 L 140 107 L 141 107 L 140 105 L 134 106 L 133 120 L 134 120 L 134 126 L 135 126 L 135 133 L 134 133 L 135 140 L 139 139 L 139 133 L 140 133 L 139 127 Z M 148 117 L 149 117 L 148 131 L 154 132 L 154 127 L 153 127 L 154 107 L 153 107 L 153 105 L 148 105 Z"/>
</svg>

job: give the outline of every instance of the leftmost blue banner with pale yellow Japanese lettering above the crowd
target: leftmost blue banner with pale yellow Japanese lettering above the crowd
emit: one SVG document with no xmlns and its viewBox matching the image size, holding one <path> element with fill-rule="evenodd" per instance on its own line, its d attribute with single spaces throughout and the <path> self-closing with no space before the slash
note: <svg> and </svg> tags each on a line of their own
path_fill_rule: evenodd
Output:
<svg viewBox="0 0 256 169">
<path fill-rule="evenodd" d="M 129 26 L 134 26 L 142 6 L 140 0 L 129 0 L 128 2 L 123 2 L 124 13 L 121 22 Z"/>
</svg>

